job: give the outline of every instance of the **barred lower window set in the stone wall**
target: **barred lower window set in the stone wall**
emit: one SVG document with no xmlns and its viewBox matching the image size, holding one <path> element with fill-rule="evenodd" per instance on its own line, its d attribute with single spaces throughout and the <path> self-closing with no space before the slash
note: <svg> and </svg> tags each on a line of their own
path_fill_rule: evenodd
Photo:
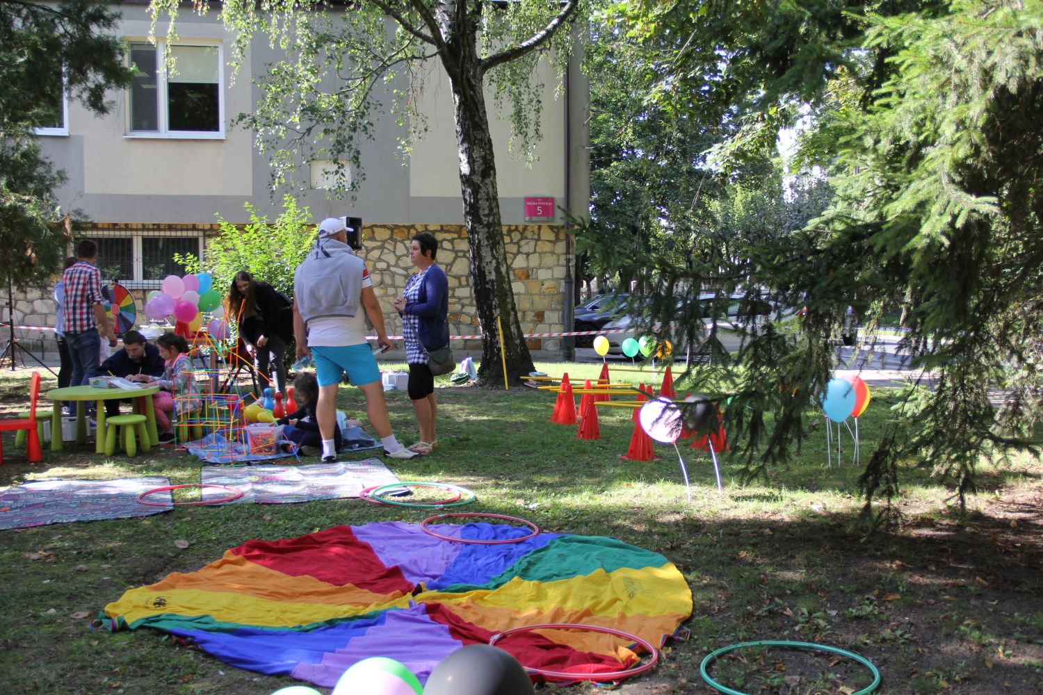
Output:
<svg viewBox="0 0 1043 695">
<path fill-rule="evenodd" d="M 166 235 L 87 237 L 98 245 L 98 270 L 106 282 L 128 289 L 159 290 L 167 275 L 184 275 L 174 254 L 202 257 L 203 240 L 198 233 Z"/>
</svg>

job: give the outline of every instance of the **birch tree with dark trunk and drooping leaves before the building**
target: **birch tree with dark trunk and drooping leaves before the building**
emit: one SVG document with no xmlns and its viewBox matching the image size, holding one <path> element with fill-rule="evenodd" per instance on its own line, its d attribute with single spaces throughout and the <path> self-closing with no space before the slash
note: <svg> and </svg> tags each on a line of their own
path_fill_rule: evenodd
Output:
<svg viewBox="0 0 1043 695">
<path fill-rule="evenodd" d="M 475 302 L 482 324 L 480 380 L 506 358 L 517 381 L 532 368 L 522 332 L 504 244 L 486 86 L 510 104 L 515 142 L 539 134 L 539 90 L 534 76 L 541 56 L 563 66 L 568 52 L 562 28 L 584 0 L 362 0 L 346 6 L 325 0 L 273 2 L 227 0 L 221 16 L 237 33 L 241 63 L 254 35 L 286 51 L 257 78 L 263 97 L 240 117 L 272 153 L 273 183 L 286 181 L 300 162 L 337 163 L 343 189 L 364 178 L 360 142 L 371 135 L 374 110 L 390 108 L 409 130 L 422 129 L 414 110 L 425 71 L 437 61 L 453 93 L 460 190 L 470 250 Z M 176 17 L 177 0 L 152 0 Z M 205 10 L 207 5 L 200 3 Z M 172 26 L 173 23 L 171 23 Z M 553 50 L 552 50 L 553 49 Z M 405 73 L 405 75 L 403 75 Z M 520 135 L 520 136 L 519 136 Z M 347 163 L 347 166 L 342 164 Z M 354 171 L 348 176 L 348 167 Z M 350 181 L 348 181 L 350 179 Z M 503 326 L 503 352 L 498 327 Z"/>
</svg>

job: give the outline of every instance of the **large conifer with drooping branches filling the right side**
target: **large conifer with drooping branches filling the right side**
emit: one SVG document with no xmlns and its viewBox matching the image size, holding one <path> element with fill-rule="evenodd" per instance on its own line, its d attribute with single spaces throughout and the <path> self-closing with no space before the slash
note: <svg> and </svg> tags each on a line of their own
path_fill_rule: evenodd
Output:
<svg viewBox="0 0 1043 695">
<path fill-rule="evenodd" d="M 625 6 L 629 36 L 659 53 L 652 98 L 719 124 L 726 172 L 806 118 L 799 162 L 822 167 L 833 204 L 804 229 L 761 240 L 728 274 L 806 303 L 800 330 L 750 336 L 729 435 L 749 470 L 784 461 L 836 366 L 828 341 L 852 301 L 872 328 L 897 307 L 903 347 L 933 373 L 911 388 L 859 480 L 866 512 L 898 494 L 900 467 L 930 466 L 961 502 L 983 456 L 1037 448 L 1043 413 L 1043 3 L 659 3 Z M 695 278 L 698 279 L 698 278 Z M 665 318 L 665 317 L 663 317 Z M 792 322 L 791 322 L 792 323 Z M 718 381 L 720 382 L 720 381 Z M 698 381 L 697 381 L 698 383 Z M 991 388 L 1006 390 L 993 408 Z"/>
</svg>

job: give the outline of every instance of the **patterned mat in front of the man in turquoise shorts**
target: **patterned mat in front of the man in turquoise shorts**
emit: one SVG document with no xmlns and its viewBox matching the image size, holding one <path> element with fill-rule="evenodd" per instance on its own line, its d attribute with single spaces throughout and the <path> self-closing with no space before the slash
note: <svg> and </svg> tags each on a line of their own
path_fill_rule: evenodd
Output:
<svg viewBox="0 0 1043 695">
<path fill-rule="evenodd" d="M 398 482 L 380 458 L 307 466 L 203 466 L 203 485 L 232 486 L 243 492 L 237 502 L 284 504 L 313 499 L 358 497 L 371 486 Z M 224 490 L 203 488 L 203 499 L 219 499 Z"/>
</svg>

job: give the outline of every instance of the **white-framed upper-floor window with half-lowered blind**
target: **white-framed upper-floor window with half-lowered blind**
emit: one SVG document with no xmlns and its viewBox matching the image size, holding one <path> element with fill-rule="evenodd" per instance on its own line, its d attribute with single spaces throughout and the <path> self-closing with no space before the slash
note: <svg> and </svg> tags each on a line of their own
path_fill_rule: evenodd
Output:
<svg viewBox="0 0 1043 695">
<path fill-rule="evenodd" d="M 173 68 L 167 67 L 167 55 Z M 223 138 L 224 98 L 219 45 L 130 43 L 130 135 Z"/>
</svg>

